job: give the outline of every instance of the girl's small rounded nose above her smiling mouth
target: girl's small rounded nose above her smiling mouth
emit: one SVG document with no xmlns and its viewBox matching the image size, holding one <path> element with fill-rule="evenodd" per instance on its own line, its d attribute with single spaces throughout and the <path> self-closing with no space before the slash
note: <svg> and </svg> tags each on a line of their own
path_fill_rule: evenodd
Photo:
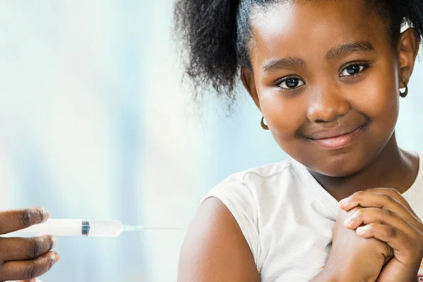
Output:
<svg viewBox="0 0 423 282">
<path fill-rule="evenodd" d="M 350 111 L 350 103 L 338 87 L 322 87 L 309 92 L 307 119 L 312 122 L 329 122 Z"/>
</svg>

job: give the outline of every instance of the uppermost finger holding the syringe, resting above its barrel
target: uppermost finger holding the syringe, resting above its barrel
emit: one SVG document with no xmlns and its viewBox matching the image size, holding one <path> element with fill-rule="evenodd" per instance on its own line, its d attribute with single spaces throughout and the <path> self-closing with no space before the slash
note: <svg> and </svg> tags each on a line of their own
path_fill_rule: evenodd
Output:
<svg viewBox="0 0 423 282">
<path fill-rule="evenodd" d="M 47 221 L 49 212 L 42 207 L 0 212 L 0 234 L 11 233 Z"/>
</svg>

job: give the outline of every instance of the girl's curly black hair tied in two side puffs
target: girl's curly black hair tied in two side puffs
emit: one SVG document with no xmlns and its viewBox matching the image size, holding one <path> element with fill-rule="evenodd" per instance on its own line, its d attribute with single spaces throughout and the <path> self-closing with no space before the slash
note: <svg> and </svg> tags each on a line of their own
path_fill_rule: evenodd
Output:
<svg viewBox="0 0 423 282">
<path fill-rule="evenodd" d="M 235 100 L 241 66 L 251 68 L 248 44 L 253 7 L 266 8 L 286 0 L 177 0 L 174 16 L 177 38 L 183 43 L 185 73 L 195 88 L 194 96 L 212 87 L 218 96 Z M 367 0 L 391 33 L 393 46 L 401 27 L 415 27 L 423 34 L 423 0 Z"/>
</svg>

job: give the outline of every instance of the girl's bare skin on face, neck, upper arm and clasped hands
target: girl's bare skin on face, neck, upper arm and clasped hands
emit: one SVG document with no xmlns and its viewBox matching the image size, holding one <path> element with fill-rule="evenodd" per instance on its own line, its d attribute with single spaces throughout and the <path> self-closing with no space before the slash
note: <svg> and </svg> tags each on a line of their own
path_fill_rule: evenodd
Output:
<svg viewBox="0 0 423 282">
<path fill-rule="evenodd" d="M 365 7 L 298 0 L 256 9 L 252 70 L 241 68 L 241 78 L 278 145 L 336 200 L 353 195 L 341 204 L 328 262 L 312 281 L 414 282 L 423 225 L 400 194 L 415 181 L 419 159 L 398 147 L 395 126 L 419 39 L 408 29 L 394 46 L 386 23 Z M 367 201 L 356 193 L 367 188 L 396 190 L 368 190 Z M 350 216 L 355 223 L 344 226 Z M 361 224 L 372 228 L 362 233 Z M 217 199 L 204 202 L 188 230 L 178 281 L 259 281 L 239 226 Z"/>
</svg>

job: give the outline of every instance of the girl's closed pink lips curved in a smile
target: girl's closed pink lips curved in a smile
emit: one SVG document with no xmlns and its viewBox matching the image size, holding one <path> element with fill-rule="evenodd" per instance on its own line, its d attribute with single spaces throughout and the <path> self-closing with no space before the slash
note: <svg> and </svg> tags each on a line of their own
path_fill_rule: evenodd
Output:
<svg viewBox="0 0 423 282">
<path fill-rule="evenodd" d="M 364 125 L 322 129 L 307 135 L 307 139 L 326 149 L 341 149 L 350 145 L 360 135 L 362 128 Z"/>
</svg>

